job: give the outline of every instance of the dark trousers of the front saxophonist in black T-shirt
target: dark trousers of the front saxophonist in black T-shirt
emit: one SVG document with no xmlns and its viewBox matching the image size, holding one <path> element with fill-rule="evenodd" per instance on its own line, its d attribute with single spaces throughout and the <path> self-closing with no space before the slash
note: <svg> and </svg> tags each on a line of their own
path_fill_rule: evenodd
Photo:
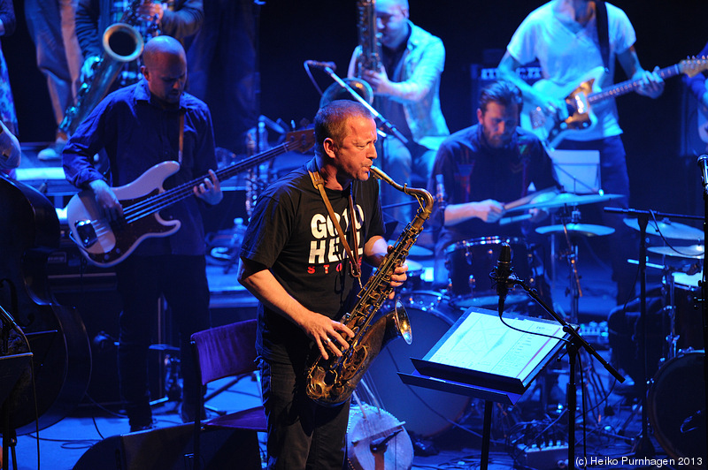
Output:
<svg viewBox="0 0 708 470">
<path fill-rule="evenodd" d="M 304 364 L 261 360 L 260 369 L 268 422 L 268 468 L 342 468 L 350 400 L 330 407 L 307 398 Z"/>
</svg>

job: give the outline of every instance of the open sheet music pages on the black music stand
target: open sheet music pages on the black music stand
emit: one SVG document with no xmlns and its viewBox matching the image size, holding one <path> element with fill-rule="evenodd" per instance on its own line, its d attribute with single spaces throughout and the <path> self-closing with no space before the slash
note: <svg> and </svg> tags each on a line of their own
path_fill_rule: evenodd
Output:
<svg viewBox="0 0 708 470">
<path fill-rule="evenodd" d="M 565 336 L 559 323 L 517 318 L 504 322 L 527 333 L 512 330 L 496 315 L 468 315 L 429 361 L 524 380 Z"/>
</svg>

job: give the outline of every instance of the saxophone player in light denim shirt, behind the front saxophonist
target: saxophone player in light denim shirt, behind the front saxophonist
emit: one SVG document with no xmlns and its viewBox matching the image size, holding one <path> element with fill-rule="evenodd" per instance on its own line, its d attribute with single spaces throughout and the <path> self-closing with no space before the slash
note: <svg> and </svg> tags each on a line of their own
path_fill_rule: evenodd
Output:
<svg viewBox="0 0 708 470">
<path fill-rule="evenodd" d="M 425 187 L 433 169 L 435 152 L 450 135 L 440 108 L 440 75 L 445 63 L 443 41 L 415 26 L 409 19 L 408 0 L 376 0 L 375 25 L 370 34 L 381 34 L 380 50 L 366 50 L 362 41 L 354 50 L 347 75 L 371 85 L 373 107 L 409 141 L 387 137 L 382 143 L 381 169 L 400 184 Z M 362 28 L 362 25 L 359 25 Z M 361 35 L 361 34 L 360 34 Z M 375 63 L 367 55 L 378 54 L 377 70 L 360 70 L 359 63 Z M 418 181 L 413 179 L 415 176 Z M 387 213 L 399 222 L 412 218 L 410 197 L 388 185 L 382 186 L 384 205 L 396 205 Z M 401 204 L 401 205 L 398 205 Z M 406 223 L 404 222 L 404 223 Z"/>
</svg>

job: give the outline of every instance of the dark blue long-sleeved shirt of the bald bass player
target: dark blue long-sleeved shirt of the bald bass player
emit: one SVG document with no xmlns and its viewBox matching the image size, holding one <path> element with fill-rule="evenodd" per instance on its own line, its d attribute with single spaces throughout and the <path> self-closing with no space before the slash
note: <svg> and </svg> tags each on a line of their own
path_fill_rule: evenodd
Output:
<svg viewBox="0 0 708 470">
<path fill-rule="evenodd" d="M 183 93 L 179 106 L 163 109 L 150 95 L 147 81 L 124 87 L 100 102 L 66 143 L 62 160 L 66 179 L 81 189 L 103 178 L 110 186 L 135 181 L 157 163 L 179 161 L 180 116 L 184 115 L 184 139 L 180 170 L 165 178 L 169 189 L 216 170 L 212 116 L 204 102 Z M 105 149 L 110 177 L 104 178 L 91 163 L 93 155 Z M 158 187 L 160 178 L 135 185 L 140 195 Z M 144 188 L 144 189 L 143 189 Z M 136 195 L 136 197 L 137 197 Z M 181 228 L 167 238 L 145 239 L 135 254 L 204 254 L 203 202 L 189 196 L 159 214 L 177 219 Z"/>
</svg>

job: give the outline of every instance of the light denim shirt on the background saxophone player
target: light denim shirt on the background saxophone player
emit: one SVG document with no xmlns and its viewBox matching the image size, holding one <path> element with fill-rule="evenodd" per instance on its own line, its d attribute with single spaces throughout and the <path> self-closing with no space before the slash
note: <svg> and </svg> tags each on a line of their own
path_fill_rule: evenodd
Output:
<svg viewBox="0 0 708 470">
<path fill-rule="evenodd" d="M 450 134 L 440 108 L 440 74 L 445 64 L 445 47 L 440 38 L 410 21 L 408 24 L 411 36 L 406 44 L 403 64 L 398 67 L 396 75 L 389 75 L 389 80 L 398 82 L 398 92 L 387 97 L 404 105 L 405 120 L 413 140 L 423 143 L 421 140 L 425 137 Z M 361 46 L 358 46 L 351 57 L 350 77 L 360 55 Z"/>
</svg>

